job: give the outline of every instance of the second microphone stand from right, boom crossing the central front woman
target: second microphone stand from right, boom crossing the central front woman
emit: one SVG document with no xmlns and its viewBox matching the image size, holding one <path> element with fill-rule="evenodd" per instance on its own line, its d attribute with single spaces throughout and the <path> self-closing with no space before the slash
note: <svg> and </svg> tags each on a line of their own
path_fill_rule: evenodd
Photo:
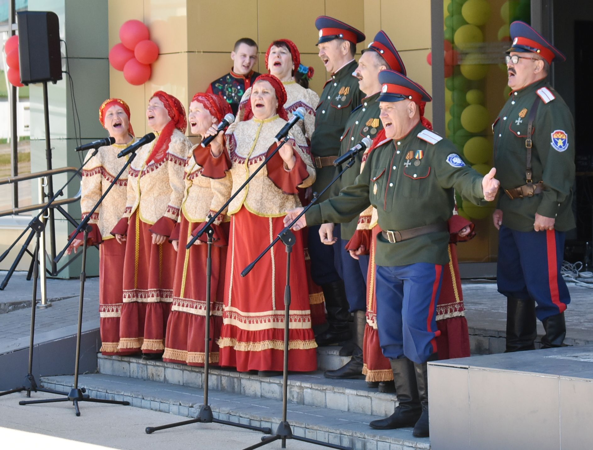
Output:
<svg viewBox="0 0 593 450">
<path fill-rule="evenodd" d="M 276 154 L 276 152 L 278 152 L 280 147 L 282 147 L 286 142 L 288 142 L 288 140 L 289 140 L 289 137 L 287 135 L 287 136 L 285 136 L 285 138 L 283 138 L 280 141 L 280 145 L 278 145 L 272 151 L 272 153 L 268 157 L 266 157 L 266 159 L 264 159 L 262 164 L 253 172 L 253 174 L 251 174 L 250 177 L 247 178 L 245 183 L 243 183 L 241 185 L 241 187 L 237 190 L 237 192 L 232 194 L 231 198 L 229 198 L 227 200 L 227 202 L 224 205 L 222 205 L 222 208 L 219 209 L 216 212 L 216 214 L 213 215 L 208 220 L 208 222 L 206 222 L 206 225 L 186 245 L 186 249 L 190 250 L 192 248 L 193 243 L 196 242 L 196 240 L 200 236 L 202 236 L 204 233 L 206 233 L 206 236 L 208 238 L 208 242 L 207 242 L 207 244 L 208 244 L 208 258 L 206 259 L 206 330 L 204 333 L 205 334 L 205 336 L 204 336 L 205 355 L 204 355 L 204 381 L 203 381 L 204 403 L 202 404 L 202 406 L 200 406 L 200 411 L 197 413 L 196 419 L 184 420 L 183 422 L 170 423 L 168 425 L 161 425 L 161 426 L 156 426 L 156 427 L 149 426 L 149 427 L 146 427 L 146 429 L 145 429 L 146 434 L 148 434 L 148 435 L 155 431 L 164 430 L 167 428 L 173 428 L 173 427 L 182 426 L 182 425 L 190 425 L 192 423 L 212 423 L 212 422 L 222 423 L 224 425 L 236 426 L 236 427 L 240 427 L 240 428 L 246 428 L 249 430 L 260 431 L 266 435 L 269 435 L 270 433 L 272 433 L 272 429 L 270 429 L 269 427 L 257 427 L 257 426 L 251 426 L 251 425 L 243 425 L 242 423 L 234 423 L 234 422 L 228 422 L 227 420 L 214 419 L 214 417 L 212 416 L 212 409 L 208 404 L 208 373 L 209 373 L 209 368 L 210 368 L 209 359 L 210 359 L 210 341 L 211 341 L 211 338 L 210 338 L 210 286 L 211 286 L 211 278 L 212 278 L 211 253 L 212 253 L 212 236 L 214 234 L 214 229 L 212 228 L 212 224 L 216 220 L 216 218 L 219 215 L 221 215 L 222 211 L 224 211 L 227 208 L 227 206 L 232 202 L 232 200 L 235 197 L 237 197 L 237 195 L 247 186 L 247 184 L 249 184 L 251 179 L 260 170 L 262 170 L 262 168 L 266 165 L 266 163 L 270 159 L 272 159 L 272 157 Z"/>
</svg>

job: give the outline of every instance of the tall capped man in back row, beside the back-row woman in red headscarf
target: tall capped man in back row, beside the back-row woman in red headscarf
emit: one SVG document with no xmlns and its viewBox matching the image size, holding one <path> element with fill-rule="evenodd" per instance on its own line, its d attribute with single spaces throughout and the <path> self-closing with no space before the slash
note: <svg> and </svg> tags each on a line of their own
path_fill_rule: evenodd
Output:
<svg viewBox="0 0 593 450">
<path fill-rule="evenodd" d="M 320 193 L 336 174 L 333 162 L 340 151 L 340 136 L 350 113 L 361 104 L 363 94 L 352 72 L 357 66 L 354 59 L 356 44 L 364 41 L 365 35 L 324 15 L 315 20 L 315 27 L 319 30 L 319 57 L 331 74 L 315 110 L 315 130 L 311 136 L 311 154 L 317 175 L 312 189 Z M 329 191 L 320 200 L 327 197 Z M 339 258 L 340 254 L 334 254 L 331 245 L 321 243 L 318 226 L 310 227 L 308 233 L 311 278 L 323 289 L 329 325 L 315 340 L 318 346 L 340 343 L 352 336 L 344 282 L 334 266 L 334 258 Z"/>
</svg>

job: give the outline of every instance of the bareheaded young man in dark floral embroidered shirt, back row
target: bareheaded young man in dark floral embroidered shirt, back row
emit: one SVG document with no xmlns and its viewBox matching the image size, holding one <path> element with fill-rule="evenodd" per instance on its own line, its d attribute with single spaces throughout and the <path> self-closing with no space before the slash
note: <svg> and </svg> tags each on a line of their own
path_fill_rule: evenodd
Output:
<svg viewBox="0 0 593 450">
<path fill-rule="evenodd" d="M 231 59 L 231 71 L 212 81 L 206 92 L 222 95 L 231 105 L 232 113 L 237 116 L 241 97 L 260 75 L 253 71 L 257 63 L 257 43 L 249 37 L 242 37 L 235 42 Z"/>
</svg>

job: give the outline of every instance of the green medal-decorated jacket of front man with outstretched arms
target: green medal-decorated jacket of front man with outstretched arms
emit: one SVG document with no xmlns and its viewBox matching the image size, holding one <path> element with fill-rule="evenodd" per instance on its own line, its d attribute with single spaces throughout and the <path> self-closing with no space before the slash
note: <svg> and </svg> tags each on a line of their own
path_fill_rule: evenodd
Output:
<svg viewBox="0 0 593 450">
<path fill-rule="evenodd" d="M 355 182 L 339 196 L 312 206 L 305 219 L 307 225 L 349 222 L 372 205 L 382 230 L 439 224 L 452 215 L 454 190 L 473 203 L 482 202 L 482 178 L 464 164 L 451 141 L 418 123 L 404 138 L 388 139 L 372 150 Z M 394 244 L 378 235 L 375 261 L 379 266 L 447 264 L 448 244 L 448 231 Z"/>
</svg>

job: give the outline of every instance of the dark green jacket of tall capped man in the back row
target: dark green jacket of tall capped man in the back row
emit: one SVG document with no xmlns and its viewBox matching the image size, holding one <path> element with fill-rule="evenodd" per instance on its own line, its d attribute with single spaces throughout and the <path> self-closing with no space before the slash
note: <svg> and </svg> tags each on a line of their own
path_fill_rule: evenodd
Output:
<svg viewBox="0 0 593 450">
<path fill-rule="evenodd" d="M 347 63 L 331 76 L 323 87 L 319 104 L 315 110 L 315 130 L 311 136 L 311 153 L 315 157 L 337 156 L 340 151 L 340 136 L 352 110 L 361 103 L 362 92 L 358 87 L 358 78 L 352 76 L 358 63 Z M 315 159 L 313 159 L 315 164 Z M 321 192 L 336 174 L 333 166 L 316 168 L 317 178 L 313 190 Z M 320 197 L 330 197 L 330 190 Z"/>
</svg>

